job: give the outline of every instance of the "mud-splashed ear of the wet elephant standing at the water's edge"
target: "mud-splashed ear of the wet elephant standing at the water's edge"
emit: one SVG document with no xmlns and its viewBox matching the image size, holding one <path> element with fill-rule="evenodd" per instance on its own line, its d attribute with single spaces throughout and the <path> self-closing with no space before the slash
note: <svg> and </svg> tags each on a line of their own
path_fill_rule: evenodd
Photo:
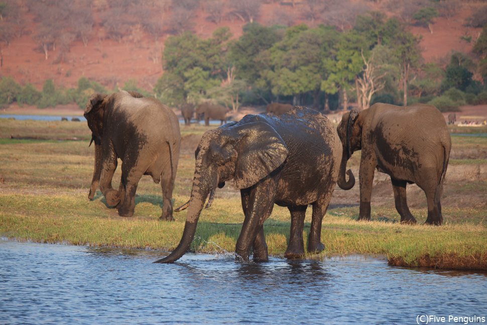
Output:
<svg viewBox="0 0 487 325">
<path fill-rule="evenodd" d="M 253 122 L 232 127 L 239 141 L 233 181 L 238 189 L 248 188 L 282 165 L 288 148 L 281 136 L 267 123 Z"/>
</svg>

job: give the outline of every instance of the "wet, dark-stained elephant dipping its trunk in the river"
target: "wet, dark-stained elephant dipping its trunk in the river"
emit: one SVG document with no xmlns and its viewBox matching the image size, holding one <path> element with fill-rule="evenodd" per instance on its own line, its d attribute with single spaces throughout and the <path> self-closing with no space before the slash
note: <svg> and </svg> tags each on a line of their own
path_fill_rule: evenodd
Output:
<svg viewBox="0 0 487 325">
<path fill-rule="evenodd" d="M 246 115 L 207 131 L 196 149 L 191 198 L 182 239 L 177 248 L 156 263 L 172 263 L 189 248 L 196 225 L 209 195 L 216 187 L 233 179 L 240 189 L 245 219 L 235 252 L 237 259 L 267 261 L 268 249 L 264 221 L 274 203 L 288 207 L 291 233 L 287 258 L 304 254 L 303 228 L 306 208 L 313 207 L 308 252 L 320 252 L 321 221 L 338 180 L 341 143 L 331 122 L 321 113 L 296 106 L 280 117 L 267 114 Z M 179 208 L 178 208 L 179 209 Z M 177 210 L 178 210 L 177 209 Z"/>
</svg>

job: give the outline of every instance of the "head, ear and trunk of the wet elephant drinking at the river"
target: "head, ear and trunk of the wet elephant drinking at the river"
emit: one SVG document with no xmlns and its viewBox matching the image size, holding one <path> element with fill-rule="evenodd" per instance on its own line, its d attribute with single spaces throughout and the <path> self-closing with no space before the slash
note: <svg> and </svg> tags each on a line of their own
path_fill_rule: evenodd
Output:
<svg viewBox="0 0 487 325">
<path fill-rule="evenodd" d="M 182 239 L 178 247 L 156 263 L 172 263 L 188 249 L 208 194 L 233 179 L 238 189 L 248 188 L 276 170 L 288 155 L 279 134 L 268 124 L 228 123 L 206 132 L 196 149 L 191 198 Z M 210 202 L 209 202 L 210 203 Z"/>
</svg>

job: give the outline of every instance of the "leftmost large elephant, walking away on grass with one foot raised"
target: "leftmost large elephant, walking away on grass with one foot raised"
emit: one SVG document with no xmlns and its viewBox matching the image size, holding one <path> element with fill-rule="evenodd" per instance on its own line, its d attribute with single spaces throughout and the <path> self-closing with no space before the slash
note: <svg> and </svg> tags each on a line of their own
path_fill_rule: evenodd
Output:
<svg viewBox="0 0 487 325">
<path fill-rule="evenodd" d="M 137 92 L 95 93 L 84 117 L 95 143 L 95 165 L 88 198 L 99 188 L 109 206 L 121 216 L 132 216 L 142 175 L 161 182 L 162 220 L 174 220 L 172 192 L 179 160 L 179 121 L 169 107 Z M 91 143 L 90 143 L 91 144 Z M 122 161 L 118 190 L 111 186 L 117 158 Z"/>
</svg>

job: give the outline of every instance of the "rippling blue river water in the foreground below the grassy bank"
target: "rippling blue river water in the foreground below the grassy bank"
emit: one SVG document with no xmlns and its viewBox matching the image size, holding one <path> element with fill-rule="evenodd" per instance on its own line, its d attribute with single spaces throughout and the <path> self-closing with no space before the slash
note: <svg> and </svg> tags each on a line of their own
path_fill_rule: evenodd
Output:
<svg viewBox="0 0 487 325">
<path fill-rule="evenodd" d="M 487 313 L 485 274 L 385 260 L 234 262 L 0 241 L 0 323 L 415 323 Z"/>
</svg>

